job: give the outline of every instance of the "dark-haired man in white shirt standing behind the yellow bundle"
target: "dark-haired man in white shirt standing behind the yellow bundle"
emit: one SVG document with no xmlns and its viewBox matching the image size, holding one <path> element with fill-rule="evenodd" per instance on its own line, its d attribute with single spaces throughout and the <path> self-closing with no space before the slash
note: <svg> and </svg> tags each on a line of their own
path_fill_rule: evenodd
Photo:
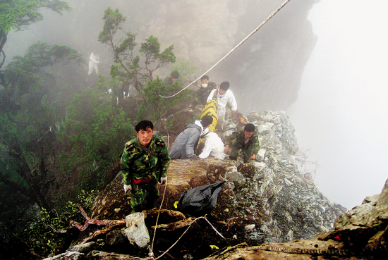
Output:
<svg viewBox="0 0 388 260">
<path fill-rule="evenodd" d="M 217 89 L 213 89 L 212 92 L 210 92 L 209 97 L 207 97 L 207 102 L 213 99 L 216 91 Z M 231 92 L 231 89 L 229 89 L 229 82 L 224 81 L 221 83 L 221 85 L 219 85 L 219 91 L 217 92 L 217 103 L 217 125 L 219 126 L 219 128 L 223 128 L 225 121 L 226 105 L 229 104 L 231 106 L 232 113 L 236 112 L 237 110 L 237 101 L 234 97 L 233 92 Z"/>
</svg>

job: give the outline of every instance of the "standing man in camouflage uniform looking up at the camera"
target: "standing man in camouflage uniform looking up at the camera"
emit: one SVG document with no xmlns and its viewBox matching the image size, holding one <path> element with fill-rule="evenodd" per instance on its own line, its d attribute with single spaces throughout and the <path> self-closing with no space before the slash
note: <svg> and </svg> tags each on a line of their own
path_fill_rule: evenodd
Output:
<svg viewBox="0 0 388 260">
<path fill-rule="evenodd" d="M 124 192 L 131 190 L 132 213 L 152 209 L 159 198 L 157 182 L 167 181 L 169 151 L 163 138 L 153 135 L 153 129 L 150 120 L 140 121 L 135 126 L 137 138 L 126 143 L 121 156 Z"/>
</svg>

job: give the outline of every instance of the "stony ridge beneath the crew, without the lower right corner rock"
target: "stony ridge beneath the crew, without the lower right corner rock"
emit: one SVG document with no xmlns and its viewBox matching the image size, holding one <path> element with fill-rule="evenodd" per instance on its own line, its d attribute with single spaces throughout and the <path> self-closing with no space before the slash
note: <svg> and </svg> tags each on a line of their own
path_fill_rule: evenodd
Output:
<svg viewBox="0 0 388 260">
<path fill-rule="evenodd" d="M 250 113 L 247 119 L 256 126 L 260 136 L 257 161 L 242 163 L 241 157 L 238 161 L 218 159 L 171 161 L 166 190 L 163 186 L 160 189 L 161 194 L 165 192 L 162 209 L 171 212 L 176 210 L 174 202 L 178 201 L 184 190 L 219 180 L 226 182 L 222 192 L 219 193 L 217 206 L 206 216 L 224 239 L 217 236 L 205 221 L 197 221 L 190 227 L 188 234 L 182 237 L 177 248 L 171 249 L 170 253 L 174 257 L 202 259 L 212 253 L 214 247 L 210 247 L 211 245 L 218 248 L 240 243 L 256 246 L 263 242 L 279 243 L 310 239 L 317 233 L 332 230 L 335 219 L 346 211 L 339 204 L 329 202 L 317 190 L 309 175 L 298 170 L 295 159 L 298 151 L 295 131 L 283 111 Z M 241 128 L 242 125 L 227 120 L 222 135 L 225 137 Z M 159 199 L 158 206 L 160 204 L 162 198 Z M 92 253 L 93 250 L 124 254 L 128 257 L 144 257 L 146 250 L 136 245 L 128 247 L 130 243 L 121 232 L 125 223 L 123 219 L 130 212 L 129 195 L 123 193 L 121 175 L 118 174 L 97 195 L 88 216 L 100 221 L 119 220 L 120 222 L 116 223 L 120 225 L 113 228 L 105 227 L 106 232 L 102 232 L 101 227 L 90 225 L 87 230 L 80 232 L 80 237 L 73 242 L 73 246 L 80 248 L 80 245 L 86 243 L 92 243 L 92 246 L 88 244 L 82 247 L 83 250 L 78 250 L 80 252 L 77 257 L 102 259 L 96 255 L 92 256 L 95 254 Z M 152 237 L 154 231 L 151 227 L 156 218 L 152 217 L 152 211 L 144 213 L 145 223 Z M 182 222 L 193 221 L 190 216 L 184 218 L 185 216 L 161 213 L 158 222 L 160 225 L 154 240 L 155 254 L 162 254 L 161 252 L 182 235 L 185 227 L 188 227 L 188 224 Z M 182 225 L 181 228 L 171 228 L 171 223 Z M 93 233 L 95 235 L 92 235 Z M 60 257 L 51 259 L 61 259 Z"/>
</svg>

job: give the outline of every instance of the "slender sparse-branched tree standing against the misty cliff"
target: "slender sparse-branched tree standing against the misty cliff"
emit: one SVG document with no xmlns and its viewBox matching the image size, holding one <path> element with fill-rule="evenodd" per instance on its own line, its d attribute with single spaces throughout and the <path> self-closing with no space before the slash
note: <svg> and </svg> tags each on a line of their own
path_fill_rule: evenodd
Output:
<svg viewBox="0 0 388 260">
<path fill-rule="evenodd" d="M 124 85 L 133 84 L 147 106 L 147 96 L 144 93 L 147 82 L 153 81 L 152 74 L 155 70 L 176 61 L 172 52 L 174 45 L 161 51 L 159 40 L 151 35 L 140 44 L 140 49 L 137 50 L 135 49 L 138 45 L 135 42 L 136 35 L 123 30 L 122 26 L 126 18 L 119 9 L 114 11 L 107 8 L 103 19 L 105 22 L 102 32 L 99 33 L 99 42 L 111 47 L 114 63 L 116 63 L 111 66 L 112 77 L 119 77 Z M 143 56 L 142 60 L 139 55 L 135 55 L 137 51 L 140 56 Z"/>
</svg>

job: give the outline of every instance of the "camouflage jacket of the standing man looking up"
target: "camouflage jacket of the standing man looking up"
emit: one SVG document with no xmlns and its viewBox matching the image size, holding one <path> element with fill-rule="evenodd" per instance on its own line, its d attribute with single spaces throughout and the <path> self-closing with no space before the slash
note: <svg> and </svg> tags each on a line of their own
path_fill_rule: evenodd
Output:
<svg viewBox="0 0 388 260">
<path fill-rule="evenodd" d="M 142 148 L 138 138 L 126 143 L 121 156 L 121 173 L 126 185 L 131 184 L 131 178 L 149 179 L 153 177 L 160 180 L 166 177 L 170 156 L 163 138 L 152 135 L 150 143 L 145 148 Z"/>
</svg>

